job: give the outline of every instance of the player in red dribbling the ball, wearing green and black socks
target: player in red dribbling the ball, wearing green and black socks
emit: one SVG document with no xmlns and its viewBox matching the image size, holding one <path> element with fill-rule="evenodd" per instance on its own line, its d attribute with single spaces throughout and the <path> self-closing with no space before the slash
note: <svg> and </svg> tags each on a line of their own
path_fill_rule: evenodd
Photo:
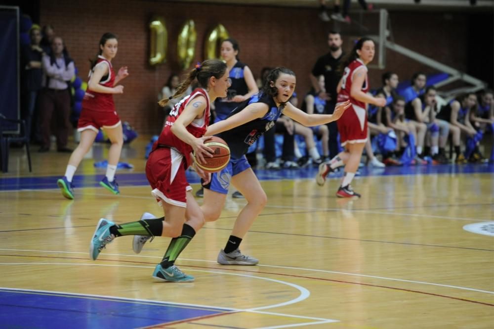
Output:
<svg viewBox="0 0 494 329">
<path fill-rule="evenodd" d="M 100 219 L 89 248 L 93 260 L 96 260 L 106 244 L 122 235 L 168 236 L 176 238 L 172 239 L 173 243 L 185 247 L 204 224 L 204 214 L 192 195 L 185 171 L 193 162 L 192 152 L 195 152 L 199 162 L 212 156 L 212 149 L 204 144 L 211 137 L 203 135 L 209 124 L 209 104 L 217 97 L 226 97 L 230 87 L 226 64 L 211 59 L 196 65 L 175 94 L 162 99 L 160 105 L 165 106 L 168 100 L 183 94 L 196 78 L 199 88 L 172 108 L 146 163 L 146 177 L 152 188 L 151 193 L 161 204 L 166 217 L 149 218 L 144 214 L 140 221 L 120 225 Z M 197 166 L 196 172 L 206 182 L 210 180 L 210 175 Z M 172 282 L 194 281 L 194 277 L 184 274 L 168 261 L 169 252 L 173 250 L 168 248 L 163 260 L 156 265 L 153 277 Z"/>
</svg>

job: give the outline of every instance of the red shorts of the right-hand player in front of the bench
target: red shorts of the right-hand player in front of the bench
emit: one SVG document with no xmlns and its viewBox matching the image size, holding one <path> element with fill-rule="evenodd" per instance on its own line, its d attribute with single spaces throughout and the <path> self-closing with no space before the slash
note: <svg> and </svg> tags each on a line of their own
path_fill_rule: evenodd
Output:
<svg viewBox="0 0 494 329">
<path fill-rule="evenodd" d="M 336 121 L 341 146 L 346 143 L 365 143 L 367 141 L 367 111 L 355 104 L 350 105 L 341 118 Z"/>
</svg>

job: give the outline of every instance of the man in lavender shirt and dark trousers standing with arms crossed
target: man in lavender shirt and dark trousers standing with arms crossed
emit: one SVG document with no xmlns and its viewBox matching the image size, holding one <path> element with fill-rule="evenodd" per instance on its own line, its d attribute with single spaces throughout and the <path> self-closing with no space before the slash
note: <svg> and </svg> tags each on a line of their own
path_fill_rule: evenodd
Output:
<svg viewBox="0 0 494 329">
<path fill-rule="evenodd" d="M 42 144 L 39 152 L 50 149 L 51 117 L 55 116 L 55 135 L 58 152 L 72 152 L 67 148 L 70 124 L 70 97 L 69 83 L 75 76 L 75 66 L 69 57 L 62 38 L 53 38 L 51 53 L 43 55 L 43 90 L 40 94 L 40 126 Z"/>
</svg>

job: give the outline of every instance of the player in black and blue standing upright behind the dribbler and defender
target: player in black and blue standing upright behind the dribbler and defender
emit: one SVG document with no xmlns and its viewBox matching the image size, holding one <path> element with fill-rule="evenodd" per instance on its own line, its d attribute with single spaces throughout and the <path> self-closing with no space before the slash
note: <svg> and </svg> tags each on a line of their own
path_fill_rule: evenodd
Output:
<svg viewBox="0 0 494 329">
<path fill-rule="evenodd" d="M 239 60 L 239 52 L 240 46 L 237 40 L 228 38 L 221 43 L 221 58 L 228 67 L 230 87 L 228 87 L 226 97 L 217 98 L 214 101 L 214 113 L 216 114 L 214 122 L 224 120 L 241 102 L 259 92 L 252 71 L 247 64 Z M 196 192 L 196 196 L 202 197 L 203 194 L 204 188 L 201 187 Z M 232 197 L 243 198 L 244 196 L 239 191 L 235 191 Z"/>
</svg>

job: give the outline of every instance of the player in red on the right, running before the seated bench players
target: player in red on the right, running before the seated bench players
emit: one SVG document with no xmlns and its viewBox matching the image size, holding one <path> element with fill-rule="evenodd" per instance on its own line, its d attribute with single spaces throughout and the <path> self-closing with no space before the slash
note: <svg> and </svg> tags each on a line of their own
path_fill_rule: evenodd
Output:
<svg viewBox="0 0 494 329">
<path fill-rule="evenodd" d="M 323 186 L 329 172 L 344 165 L 345 174 L 336 192 L 338 197 L 360 197 L 360 194 L 350 187 L 350 183 L 355 177 L 367 141 L 367 104 L 371 103 L 379 107 L 386 105 L 386 99 L 367 94 L 369 81 L 366 65 L 372 61 L 372 58 L 374 58 L 374 42 L 369 38 L 362 38 L 342 62 L 344 70 L 337 88 L 337 102 L 350 100 L 352 104 L 337 121 L 344 150 L 329 162 L 322 163 L 316 177 L 317 184 Z"/>
</svg>

